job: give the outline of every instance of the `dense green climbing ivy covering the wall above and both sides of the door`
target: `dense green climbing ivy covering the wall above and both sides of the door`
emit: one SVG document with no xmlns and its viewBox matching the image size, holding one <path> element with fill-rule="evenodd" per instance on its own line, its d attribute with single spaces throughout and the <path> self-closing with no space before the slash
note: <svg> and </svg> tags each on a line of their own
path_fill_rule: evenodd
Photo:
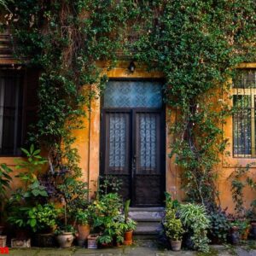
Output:
<svg viewBox="0 0 256 256">
<path fill-rule="evenodd" d="M 253 0 L 19 0 L 9 9 L 16 55 L 42 70 L 31 139 L 51 159 L 80 175 L 72 131 L 96 96 L 90 84 L 102 89 L 108 80 L 98 61 L 111 68 L 121 50 L 164 74 L 170 157 L 182 167 L 190 201 L 216 200 L 228 81 L 236 65 L 255 60 Z"/>
</svg>

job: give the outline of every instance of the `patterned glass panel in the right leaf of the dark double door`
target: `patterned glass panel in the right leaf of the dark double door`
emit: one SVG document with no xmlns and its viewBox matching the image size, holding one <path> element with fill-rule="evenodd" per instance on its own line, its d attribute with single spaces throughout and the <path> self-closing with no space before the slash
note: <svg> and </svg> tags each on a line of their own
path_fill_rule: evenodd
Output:
<svg viewBox="0 0 256 256">
<path fill-rule="evenodd" d="M 156 116 L 139 114 L 140 129 L 140 167 L 156 166 Z"/>
</svg>

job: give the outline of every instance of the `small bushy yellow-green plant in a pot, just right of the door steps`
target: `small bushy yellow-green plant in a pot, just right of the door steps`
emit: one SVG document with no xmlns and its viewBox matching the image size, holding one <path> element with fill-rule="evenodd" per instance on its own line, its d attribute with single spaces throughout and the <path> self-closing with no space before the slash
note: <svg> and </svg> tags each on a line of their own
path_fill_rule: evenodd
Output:
<svg viewBox="0 0 256 256">
<path fill-rule="evenodd" d="M 183 238 L 183 225 L 176 217 L 176 210 L 172 207 L 166 207 L 166 217 L 164 220 L 166 236 L 170 239 L 172 250 L 180 251 Z"/>
</svg>

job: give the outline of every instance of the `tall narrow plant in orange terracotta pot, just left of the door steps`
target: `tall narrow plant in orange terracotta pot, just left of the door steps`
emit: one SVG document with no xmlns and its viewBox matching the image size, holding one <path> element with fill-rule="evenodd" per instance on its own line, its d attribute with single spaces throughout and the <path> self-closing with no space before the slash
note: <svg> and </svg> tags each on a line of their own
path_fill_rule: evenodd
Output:
<svg viewBox="0 0 256 256">
<path fill-rule="evenodd" d="M 132 244 L 132 233 L 136 229 L 137 223 L 129 218 L 129 207 L 130 207 L 131 200 L 125 201 L 125 225 L 124 225 L 124 232 L 125 232 L 125 237 L 124 237 L 124 244 L 125 245 L 131 245 Z"/>
</svg>

